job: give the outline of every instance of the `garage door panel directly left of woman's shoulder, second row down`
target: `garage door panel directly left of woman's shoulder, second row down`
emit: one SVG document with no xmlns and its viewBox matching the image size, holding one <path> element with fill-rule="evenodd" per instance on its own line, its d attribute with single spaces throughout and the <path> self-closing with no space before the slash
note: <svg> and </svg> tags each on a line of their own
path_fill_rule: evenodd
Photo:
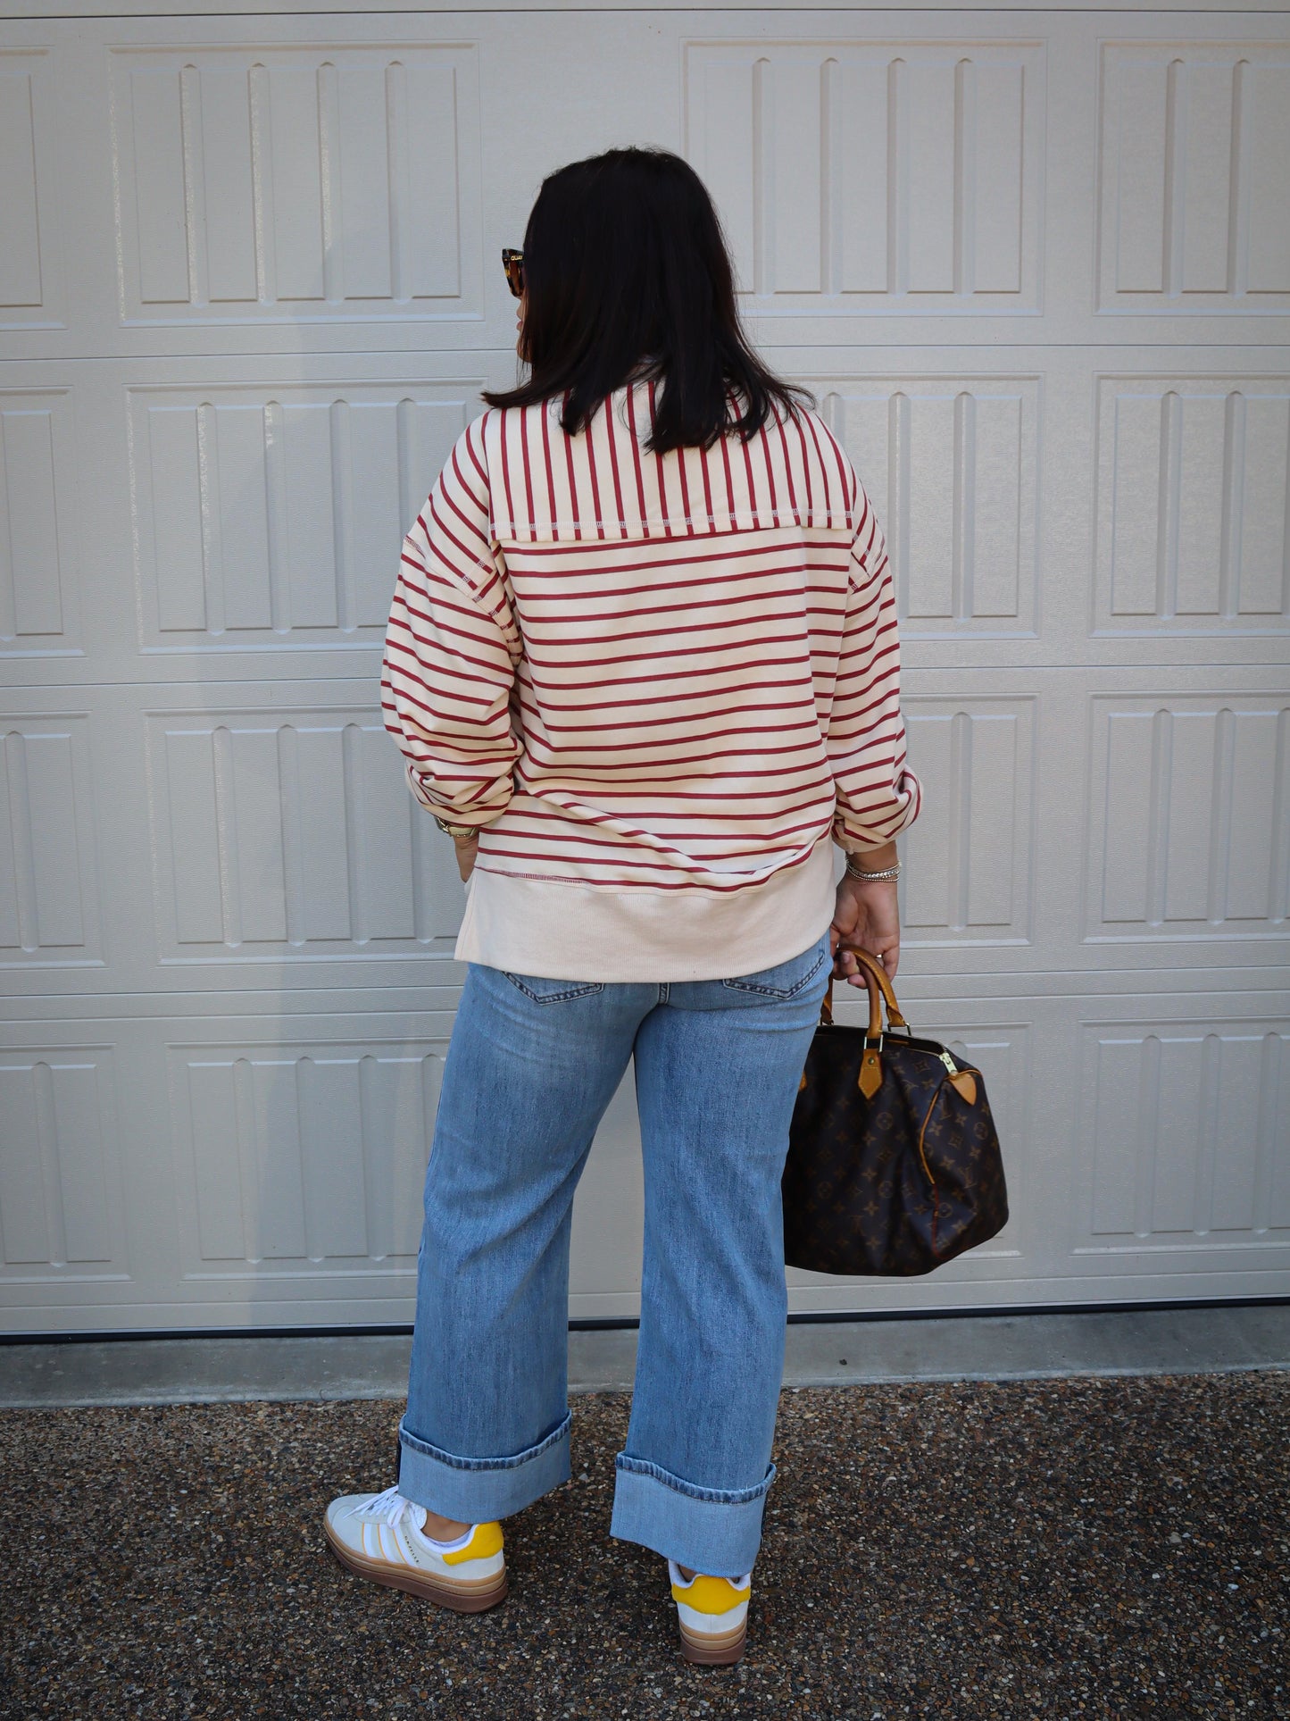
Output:
<svg viewBox="0 0 1290 1721">
<path fill-rule="evenodd" d="M 482 386 L 131 387 L 143 649 L 378 651 L 399 535 Z"/>
</svg>

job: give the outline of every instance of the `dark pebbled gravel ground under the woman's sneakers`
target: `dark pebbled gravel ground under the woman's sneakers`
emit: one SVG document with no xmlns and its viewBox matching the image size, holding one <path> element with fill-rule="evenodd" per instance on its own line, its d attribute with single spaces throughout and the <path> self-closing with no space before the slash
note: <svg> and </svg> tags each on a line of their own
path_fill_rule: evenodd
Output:
<svg viewBox="0 0 1290 1721">
<path fill-rule="evenodd" d="M 475 1618 L 325 1549 L 397 1404 L 5 1411 L 0 1714 L 1276 1721 L 1288 1409 L 1273 1372 L 789 1391 L 733 1669 L 609 1537 L 626 1394 L 574 1399 L 573 1482 Z"/>
</svg>

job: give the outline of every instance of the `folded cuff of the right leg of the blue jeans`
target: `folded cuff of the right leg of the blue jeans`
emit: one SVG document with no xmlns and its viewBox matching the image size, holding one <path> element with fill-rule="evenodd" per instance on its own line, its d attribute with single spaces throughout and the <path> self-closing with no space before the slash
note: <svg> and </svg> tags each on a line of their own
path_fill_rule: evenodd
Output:
<svg viewBox="0 0 1290 1721">
<path fill-rule="evenodd" d="M 734 1490 L 695 1487 L 626 1453 L 617 1454 L 614 1466 L 611 1535 L 640 1542 L 712 1578 L 741 1578 L 752 1571 L 774 1465 L 755 1489 Z"/>
</svg>

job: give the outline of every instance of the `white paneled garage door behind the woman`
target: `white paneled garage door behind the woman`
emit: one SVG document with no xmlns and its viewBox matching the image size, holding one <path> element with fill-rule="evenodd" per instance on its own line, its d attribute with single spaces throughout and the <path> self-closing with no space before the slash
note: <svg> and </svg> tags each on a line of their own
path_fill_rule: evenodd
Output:
<svg viewBox="0 0 1290 1721">
<path fill-rule="evenodd" d="M 542 174 L 645 141 L 882 508 L 903 1000 L 1010 1160 L 994 1244 L 795 1306 L 1283 1292 L 1285 19 L 36 10 L 0 24 L 3 1325 L 411 1318 L 463 895 L 377 711 L 397 546 L 514 375 Z M 574 1317 L 636 1310 L 633 1129 L 624 1091 Z"/>
</svg>

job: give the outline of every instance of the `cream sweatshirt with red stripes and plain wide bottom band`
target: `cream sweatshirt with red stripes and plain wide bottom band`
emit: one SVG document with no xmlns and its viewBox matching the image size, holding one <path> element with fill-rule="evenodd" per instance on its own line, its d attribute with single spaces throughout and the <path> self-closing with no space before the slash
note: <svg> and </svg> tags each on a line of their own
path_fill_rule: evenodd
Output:
<svg viewBox="0 0 1290 1721">
<path fill-rule="evenodd" d="M 733 408 L 738 404 L 731 401 Z M 882 532 L 815 413 L 650 454 L 655 384 L 461 434 L 402 542 L 382 709 L 416 800 L 478 828 L 456 955 L 556 979 L 786 962 L 832 843 L 905 830 Z"/>
</svg>

